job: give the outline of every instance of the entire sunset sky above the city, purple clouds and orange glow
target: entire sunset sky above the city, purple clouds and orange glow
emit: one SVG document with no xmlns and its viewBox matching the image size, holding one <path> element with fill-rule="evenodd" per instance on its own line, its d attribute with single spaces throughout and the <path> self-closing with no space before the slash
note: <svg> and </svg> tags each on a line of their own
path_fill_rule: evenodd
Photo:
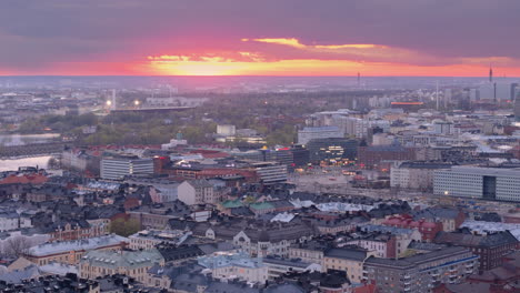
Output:
<svg viewBox="0 0 520 293">
<path fill-rule="evenodd" d="M 520 77 L 519 0 L 3 0 L 0 75 Z"/>
</svg>

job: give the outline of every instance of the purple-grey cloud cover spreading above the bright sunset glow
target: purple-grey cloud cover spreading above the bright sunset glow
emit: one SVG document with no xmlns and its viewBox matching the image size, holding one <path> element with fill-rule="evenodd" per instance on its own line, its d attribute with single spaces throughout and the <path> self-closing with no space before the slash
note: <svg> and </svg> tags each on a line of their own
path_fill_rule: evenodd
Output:
<svg viewBox="0 0 520 293">
<path fill-rule="evenodd" d="M 428 58 L 409 60 L 416 64 L 520 59 L 518 11 L 518 0 L 6 0 L 0 2 L 0 69 L 219 51 L 317 57 L 242 38 L 383 44 Z"/>
</svg>

